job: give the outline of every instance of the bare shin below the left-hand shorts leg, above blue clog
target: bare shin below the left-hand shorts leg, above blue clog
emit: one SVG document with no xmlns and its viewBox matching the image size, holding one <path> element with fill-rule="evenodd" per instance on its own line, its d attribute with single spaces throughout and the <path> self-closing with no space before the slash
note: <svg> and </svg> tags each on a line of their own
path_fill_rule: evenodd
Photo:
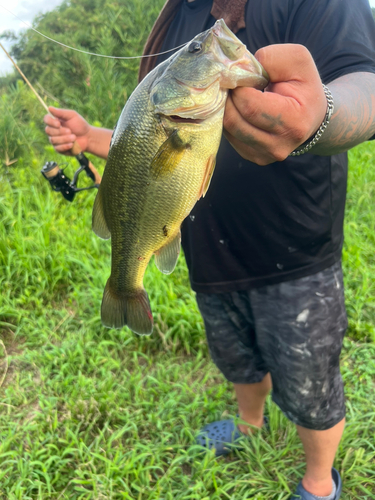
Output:
<svg viewBox="0 0 375 500">
<path fill-rule="evenodd" d="M 255 427 L 262 427 L 264 403 L 271 388 L 272 382 L 269 373 L 257 384 L 234 384 L 242 420 Z M 251 429 L 244 424 L 239 424 L 238 428 L 244 434 L 251 432 Z"/>
</svg>

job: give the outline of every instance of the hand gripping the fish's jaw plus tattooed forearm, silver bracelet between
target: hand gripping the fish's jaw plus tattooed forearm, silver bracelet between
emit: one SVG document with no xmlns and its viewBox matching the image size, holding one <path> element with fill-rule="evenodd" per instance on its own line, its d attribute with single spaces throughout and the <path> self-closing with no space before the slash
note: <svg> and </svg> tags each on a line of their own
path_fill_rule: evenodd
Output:
<svg viewBox="0 0 375 500">
<path fill-rule="evenodd" d="M 237 88 L 227 100 L 224 133 L 245 159 L 267 165 L 285 160 L 320 127 L 327 109 L 310 52 L 301 45 L 271 45 L 256 57 L 268 71 L 265 92 Z M 331 122 L 312 154 L 347 151 L 375 133 L 375 75 L 352 73 L 329 84 Z"/>
</svg>

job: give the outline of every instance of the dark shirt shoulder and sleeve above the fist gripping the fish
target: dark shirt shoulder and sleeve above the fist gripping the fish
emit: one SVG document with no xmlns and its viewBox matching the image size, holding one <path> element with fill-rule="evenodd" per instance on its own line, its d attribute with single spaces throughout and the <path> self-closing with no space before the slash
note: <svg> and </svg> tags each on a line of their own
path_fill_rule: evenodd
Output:
<svg viewBox="0 0 375 500">
<path fill-rule="evenodd" d="M 299 43 L 311 52 L 323 83 L 348 73 L 375 73 L 375 22 L 368 0 L 249 0 L 251 50 Z"/>
</svg>

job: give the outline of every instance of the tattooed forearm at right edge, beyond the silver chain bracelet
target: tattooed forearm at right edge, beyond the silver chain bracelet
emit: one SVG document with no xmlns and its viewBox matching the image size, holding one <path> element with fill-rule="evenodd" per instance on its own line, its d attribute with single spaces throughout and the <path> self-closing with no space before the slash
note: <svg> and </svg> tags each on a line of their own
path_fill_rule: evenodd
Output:
<svg viewBox="0 0 375 500">
<path fill-rule="evenodd" d="M 328 85 L 335 109 L 312 154 L 342 153 L 375 134 L 375 74 L 351 73 Z"/>
</svg>

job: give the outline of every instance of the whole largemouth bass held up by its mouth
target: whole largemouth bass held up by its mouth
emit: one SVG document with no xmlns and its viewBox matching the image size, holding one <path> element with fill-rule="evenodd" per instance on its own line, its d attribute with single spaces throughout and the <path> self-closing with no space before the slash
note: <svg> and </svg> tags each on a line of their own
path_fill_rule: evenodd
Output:
<svg viewBox="0 0 375 500">
<path fill-rule="evenodd" d="M 266 72 L 223 20 L 157 66 L 127 101 L 113 133 L 93 208 L 93 230 L 112 238 L 101 317 L 149 334 L 143 276 L 152 255 L 173 271 L 180 226 L 204 196 L 215 166 L 228 90 L 263 89 Z"/>
</svg>

